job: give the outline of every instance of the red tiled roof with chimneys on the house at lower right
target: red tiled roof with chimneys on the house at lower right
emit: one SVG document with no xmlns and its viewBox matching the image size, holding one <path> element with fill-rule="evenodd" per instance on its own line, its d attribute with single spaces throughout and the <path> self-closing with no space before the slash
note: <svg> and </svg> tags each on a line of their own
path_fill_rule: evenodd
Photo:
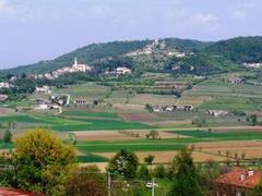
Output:
<svg viewBox="0 0 262 196">
<path fill-rule="evenodd" d="M 243 176 L 242 179 L 241 175 Z M 253 188 L 260 183 L 261 177 L 262 173 L 260 171 L 253 171 L 253 175 L 248 175 L 248 170 L 235 168 L 230 172 L 221 175 L 216 180 L 216 183 L 245 188 Z"/>
</svg>

